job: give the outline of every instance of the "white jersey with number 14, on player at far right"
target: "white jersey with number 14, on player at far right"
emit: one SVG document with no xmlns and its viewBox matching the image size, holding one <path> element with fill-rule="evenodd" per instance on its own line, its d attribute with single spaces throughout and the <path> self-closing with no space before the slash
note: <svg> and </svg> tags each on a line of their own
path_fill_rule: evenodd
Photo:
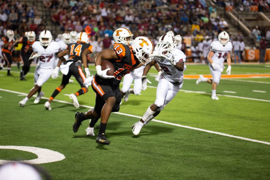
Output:
<svg viewBox="0 0 270 180">
<path fill-rule="evenodd" d="M 229 52 L 232 51 L 232 43 L 228 42 L 223 46 L 219 41 L 213 41 L 210 45 L 210 51 L 214 52 L 212 61 L 216 64 L 223 64 Z"/>
</svg>

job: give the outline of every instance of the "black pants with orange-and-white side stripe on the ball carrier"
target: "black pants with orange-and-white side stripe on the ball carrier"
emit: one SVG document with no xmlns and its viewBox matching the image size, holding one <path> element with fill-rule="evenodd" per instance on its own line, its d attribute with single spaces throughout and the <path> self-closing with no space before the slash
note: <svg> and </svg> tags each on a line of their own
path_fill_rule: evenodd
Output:
<svg viewBox="0 0 270 180">
<path fill-rule="evenodd" d="M 113 107 L 112 112 L 118 112 L 120 109 L 121 102 L 121 91 L 119 89 L 119 84 L 116 85 L 111 79 L 103 79 L 98 75 L 95 75 L 92 80 L 92 89 L 95 91 L 96 104 L 95 111 L 101 114 L 101 110 L 105 104 L 105 100 L 109 97 L 115 97 L 116 103 Z"/>
</svg>

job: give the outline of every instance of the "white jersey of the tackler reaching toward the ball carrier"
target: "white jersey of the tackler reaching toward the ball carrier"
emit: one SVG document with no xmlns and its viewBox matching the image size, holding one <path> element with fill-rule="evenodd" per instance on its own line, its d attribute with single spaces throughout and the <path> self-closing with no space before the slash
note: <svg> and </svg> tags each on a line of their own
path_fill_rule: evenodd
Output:
<svg viewBox="0 0 270 180">
<path fill-rule="evenodd" d="M 179 61 L 186 61 L 186 55 L 184 55 L 184 52 L 182 52 L 179 49 L 175 49 L 172 54 L 168 56 L 168 58 L 171 58 L 174 56 L 174 61 L 177 63 Z M 160 67 L 162 68 L 161 76 L 163 76 L 165 79 L 167 79 L 170 82 L 181 82 L 184 77 L 184 70 L 187 69 L 186 65 L 184 65 L 184 70 L 179 71 L 174 67 L 166 58 L 155 56 L 155 61 L 158 62 Z"/>
</svg>

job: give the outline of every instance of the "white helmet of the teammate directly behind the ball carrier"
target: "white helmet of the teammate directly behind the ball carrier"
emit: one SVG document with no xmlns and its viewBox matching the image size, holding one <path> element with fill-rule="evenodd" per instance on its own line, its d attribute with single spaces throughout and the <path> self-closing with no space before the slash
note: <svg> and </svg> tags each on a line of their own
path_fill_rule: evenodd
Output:
<svg viewBox="0 0 270 180">
<path fill-rule="evenodd" d="M 118 28 L 113 32 L 113 40 L 116 43 L 130 45 L 132 43 L 133 34 L 127 28 Z"/>
</svg>

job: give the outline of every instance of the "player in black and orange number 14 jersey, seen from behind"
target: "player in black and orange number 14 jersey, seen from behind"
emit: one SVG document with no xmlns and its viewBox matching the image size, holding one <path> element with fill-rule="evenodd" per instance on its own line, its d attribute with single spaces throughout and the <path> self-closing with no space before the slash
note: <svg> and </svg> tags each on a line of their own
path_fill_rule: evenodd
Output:
<svg viewBox="0 0 270 180">
<path fill-rule="evenodd" d="M 76 78 L 81 88 L 74 94 L 70 94 L 69 98 L 73 101 L 73 105 L 76 108 L 80 107 L 77 96 L 83 95 L 86 92 L 88 92 L 88 88 L 85 87 L 83 83 L 85 81 L 85 78 L 90 76 L 86 55 L 93 52 L 93 46 L 87 43 L 88 43 L 88 35 L 86 34 L 86 32 L 80 32 L 77 35 L 77 42 L 68 44 L 66 49 L 58 54 L 58 58 L 60 58 L 60 60 L 58 61 L 57 66 L 53 70 L 52 79 L 55 79 L 58 76 L 59 69 L 63 73 L 63 78 L 61 85 L 55 88 L 49 100 L 44 104 L 46 110 L 52 109 L 51 108 L 52 100 L 62 91 L 62 89 L 66 87 L 71 75 L 73 75 Z M 67 54 L 68 58 L 65 59 L 64 56 Z M 85 58 L 82 58 L 83 56 L 85 56 Z M 65 61 L 66 64 L 61 65 L 62 61 Z M 82 71 L 82 62 L 86 77 Z"/>
</svg>

